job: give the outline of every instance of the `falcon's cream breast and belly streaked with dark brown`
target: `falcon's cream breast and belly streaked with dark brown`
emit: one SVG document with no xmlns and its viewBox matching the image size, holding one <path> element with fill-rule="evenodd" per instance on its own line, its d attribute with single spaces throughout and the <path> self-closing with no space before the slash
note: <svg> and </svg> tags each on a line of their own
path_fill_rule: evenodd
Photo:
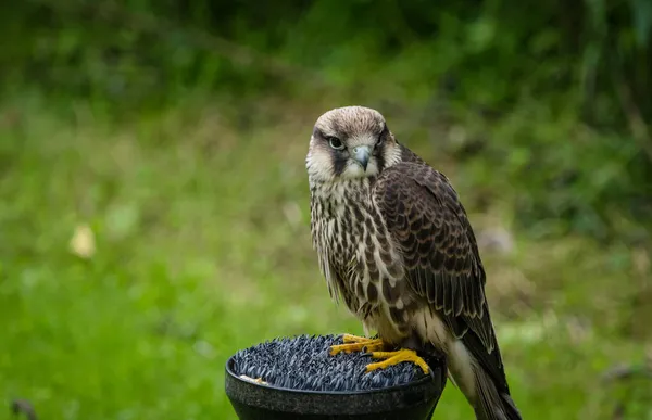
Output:
<svg viewBox="0 0 652 420">
<path fill-rule="evenodd" d="M 409 335 L 413 302 L 398 246 L 371 200 L 375 179 L 313 186 L 311 230 L 330 296 L 387 340 Z"/>
</svg>

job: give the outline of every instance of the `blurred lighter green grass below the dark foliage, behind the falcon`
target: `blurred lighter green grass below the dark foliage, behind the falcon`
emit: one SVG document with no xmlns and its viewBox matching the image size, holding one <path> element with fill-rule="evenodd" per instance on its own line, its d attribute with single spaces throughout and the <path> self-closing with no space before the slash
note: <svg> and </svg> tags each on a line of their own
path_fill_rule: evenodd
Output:
<svg viewBox="0 0 652 420">
<path fill-rule="evenodd" d="M 304 154 L 321 109 L 240 129 L 223 105 L 120 126 L 83 104 L 55 111 L 0 106 L 1 398 L 42 419 L 235 419 L 223 389 L 234 352 L 362 331 L 311 250 Z M 457 169 L 471 201 L 484 181 Z M 84 226 L 88 258 L 71 249 Z M 514 399 L 526 419 L 610 418 L 617 390 L 602 372 L 645 351 L 618 333 L 637 319 L 634 251 L 526 233 L 484 255 Z M 469 416 L 449 383 L 436 418 Z"/>
</svg>

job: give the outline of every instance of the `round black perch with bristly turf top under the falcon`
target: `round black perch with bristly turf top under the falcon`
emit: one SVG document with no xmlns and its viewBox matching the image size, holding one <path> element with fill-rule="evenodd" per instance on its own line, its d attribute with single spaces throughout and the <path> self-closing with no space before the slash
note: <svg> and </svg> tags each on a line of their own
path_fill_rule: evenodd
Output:
<svg viewBox="0 0 652 420">
<path fill-rule="evenodd" d="M 240 420 L 429 419 L 446 385 L 446 366 L 424 357 L 366 372 L 363 353 L 330 356 L 341 335 L 301 335 L 258 344 L 226 364 L 226 395 Z"/>
</svg>

